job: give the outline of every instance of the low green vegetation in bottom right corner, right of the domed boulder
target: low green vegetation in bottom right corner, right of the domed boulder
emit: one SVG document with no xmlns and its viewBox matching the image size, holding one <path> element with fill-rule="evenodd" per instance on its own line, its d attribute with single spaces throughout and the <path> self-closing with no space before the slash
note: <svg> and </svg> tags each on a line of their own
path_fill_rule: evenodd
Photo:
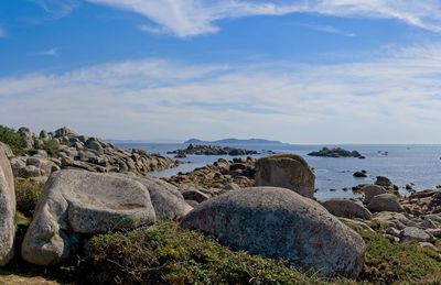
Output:
<svg viewBox="0 0 441 285">
<path fill-rule="evenodd" d="M 357 230 L 367 244 L 365 270 L 361 278 L 375 284 L 440 284 L 441 257 L 418 243 L 390 242 L 381 234 Z"/>
</svg>

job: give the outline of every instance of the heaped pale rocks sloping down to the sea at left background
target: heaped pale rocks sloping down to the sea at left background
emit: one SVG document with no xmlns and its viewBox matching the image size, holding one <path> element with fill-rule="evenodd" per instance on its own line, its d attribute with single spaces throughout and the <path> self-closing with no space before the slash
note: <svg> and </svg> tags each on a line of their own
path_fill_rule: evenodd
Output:
<svg viewBox="0 0 441 285">
<path fill-rule="evenodd" d="M 80 135 L 67 128 L 55 132 L 41 131 L 39 136 L 28 128 L 21 128 L 23 149 L 30 155 L 11 158 L 18 177 L 47 177 L 58 169 L 85 169 L 98 173 L 143 174 L 178 165 L 169 157 L 150 154 L 143 150 L 125 151 L 98 138 Z M 51 154 L 44 149 L 50 142 Z"/>
</svg>

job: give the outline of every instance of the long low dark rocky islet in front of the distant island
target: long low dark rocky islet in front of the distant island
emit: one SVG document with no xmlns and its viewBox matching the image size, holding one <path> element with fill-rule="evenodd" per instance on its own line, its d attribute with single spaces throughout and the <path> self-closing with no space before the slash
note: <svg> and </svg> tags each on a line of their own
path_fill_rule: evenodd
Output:
<svg viewBox="0 0 441 285">
<path fill-rule="evenodd" d="M 184 150 L 176 150 L 172 152 L 168 152 L 169 154 L 176 154 L 176 157 L 186 157 L 189 154 L 194 155 L 251 155 L 258 154 L 256 151 L 245 150 L 245 149 L 235 149 L 229 146 L 218 146 L 218 145 L 202 145 L 202 144 L 190 144 Z"/>
</svg>

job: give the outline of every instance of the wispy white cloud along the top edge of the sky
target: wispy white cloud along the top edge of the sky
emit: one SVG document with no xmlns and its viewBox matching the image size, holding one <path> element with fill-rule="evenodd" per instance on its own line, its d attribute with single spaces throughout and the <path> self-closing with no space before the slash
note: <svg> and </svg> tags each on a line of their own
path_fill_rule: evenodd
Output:
<svg viewBox="0 0 441 285">
<path fill-rule="evenodd" d="M 440 0 L 86 0 L 144 15 L 180 37 L 218 31 L 225 18 L 318 13 L 334 17 L 396 19 L 441 32 Z M 329 32 L 338 33 L 338 31 Z M 149 26 L 149 31 L 152 29 Z"/>
</svg>

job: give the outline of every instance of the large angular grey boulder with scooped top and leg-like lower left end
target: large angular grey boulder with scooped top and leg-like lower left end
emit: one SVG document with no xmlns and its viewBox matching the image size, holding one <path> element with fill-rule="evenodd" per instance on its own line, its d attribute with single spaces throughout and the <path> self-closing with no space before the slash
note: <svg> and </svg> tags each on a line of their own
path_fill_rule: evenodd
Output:
<svg viewBox="0 0 441 285">
<path fill-rule="evenodd" d="M 78 233 L 96 234 L 151 224 L 146 187 L 129 177 L 85 171 L 51 175 L 22 244 L 22 257 L 50 265 L 67 259 Z"/>
</svg>

